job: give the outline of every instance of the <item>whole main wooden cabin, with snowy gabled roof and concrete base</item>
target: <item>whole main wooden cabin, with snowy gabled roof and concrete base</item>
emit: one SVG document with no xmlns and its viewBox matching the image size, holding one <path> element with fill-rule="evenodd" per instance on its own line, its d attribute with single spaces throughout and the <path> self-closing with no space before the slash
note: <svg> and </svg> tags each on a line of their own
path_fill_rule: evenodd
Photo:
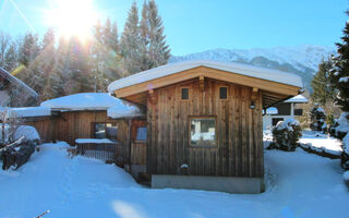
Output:
<svg viewBox="0 0 349 218">
<path fill-rule="evenodd" d="M 189 61 L 118 80 L 108 90 L 146 108 L 146 162 L 141 164 L 153 187 L 261 193 L 262 110 L 302 87 L 290 73 Z"/>
</svg>

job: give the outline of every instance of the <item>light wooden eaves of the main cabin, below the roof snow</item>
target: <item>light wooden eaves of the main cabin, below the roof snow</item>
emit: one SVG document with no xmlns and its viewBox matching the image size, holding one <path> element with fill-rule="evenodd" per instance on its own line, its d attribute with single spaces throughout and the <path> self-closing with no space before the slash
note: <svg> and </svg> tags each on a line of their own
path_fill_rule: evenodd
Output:
<svg viewBox="0 0 349 218">
<path fill-rule="evenodd" d="M 152 89 L 182 83 L 184 81 L 200 78 L 200 76 L 209 77 L 218 81 L 233 83 L 238 85 L 249 86 L 258 88 L 263 96 L 263 108 L 270 107 L 279 100 L 288 99 L 299 94 L 300 87 L 281 84 L 273 81 L 267 81 L 257 77 L 251 77 L 246 75 L 236 74 L 221 70 L 216 70 L 207 66 L 198 66 L 174 74 L 170 74 L 164 77 L 155 78 L 144 83 L 131 85 L 115 90 L 118 98 L 146 105 L 146 98 L 148 95 L 149 87 Z"/>
</svg>

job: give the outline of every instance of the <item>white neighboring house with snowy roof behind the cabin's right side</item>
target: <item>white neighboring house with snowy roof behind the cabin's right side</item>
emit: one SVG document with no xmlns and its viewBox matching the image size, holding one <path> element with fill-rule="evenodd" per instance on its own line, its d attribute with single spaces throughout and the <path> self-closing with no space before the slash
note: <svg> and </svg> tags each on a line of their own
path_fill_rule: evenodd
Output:
<svg viewBox="0 0 349 218">
<path fill-rule="evenodd" d="M 306 102 L 308 99 L 304 96 L 298 95 L 293 98 L 290 98 L 270 108 L 267 108 L 265 110 L 265 114 L 263 116 L 263 130 L 270 130 L 279 121 L 302 116 L 303 110 L 297 108 L 297 106 L 299 106 L 299 104 Z"/>
</svg>

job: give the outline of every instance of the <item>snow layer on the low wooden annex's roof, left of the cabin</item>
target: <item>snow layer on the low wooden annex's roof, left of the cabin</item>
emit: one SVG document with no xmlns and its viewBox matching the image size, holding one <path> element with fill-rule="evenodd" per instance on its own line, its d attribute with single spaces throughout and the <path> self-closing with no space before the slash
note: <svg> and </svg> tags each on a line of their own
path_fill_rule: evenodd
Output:
<svg viewBox="0 0 349 218">
<path fill-rule="evenodd" d="M 134 104 L 110 96 L 108 93 L 79 93 L 41 102 L 52 110 L 107 110 L 110 118 L 140 117 L 142 110 Z"/>
</svg>

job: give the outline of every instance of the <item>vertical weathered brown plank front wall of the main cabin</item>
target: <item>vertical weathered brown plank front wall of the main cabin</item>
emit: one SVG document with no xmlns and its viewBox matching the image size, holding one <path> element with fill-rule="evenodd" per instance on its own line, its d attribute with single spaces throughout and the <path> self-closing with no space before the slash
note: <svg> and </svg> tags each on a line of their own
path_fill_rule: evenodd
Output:
<svg viewBox="0 0 349 218">
<path fill-rule="evenodd" d="M 250 109 L 252 87 L 205 78 L 155 89 L 147 98 L 147 172 L 178 174 L 182 164 L 195 175 L 263 177 L 262 94 Z M 228 86 L 228 99 L 219 87 Z M 181 87 L 190 99 L 181 100 Z M 216 116 L 217 147 L 190 147 L 190 116 Z"/>
</svg>

